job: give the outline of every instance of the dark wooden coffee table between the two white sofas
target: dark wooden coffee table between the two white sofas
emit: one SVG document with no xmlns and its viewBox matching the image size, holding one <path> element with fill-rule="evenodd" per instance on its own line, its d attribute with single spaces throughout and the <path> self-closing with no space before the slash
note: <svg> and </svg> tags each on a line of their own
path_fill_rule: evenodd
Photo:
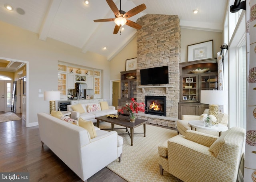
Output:
<svg viewBox="0 0 256 182">
<path fill-rule="evenodd" d="M 136 118 L 135 123 L 130 123 L 127 116 L 119 116 L 117 118 L 109 118 L 106 116 L 96 117 L 97 119 L 97 127 L 100 127 L 100 121 L 105 121 L 107 123 L 111 123 L 111 130 L 114 131 L 114 125 L 120 125 L 122 127 L 126 127 L 126 131 L 131 138 L 131 145 L 133 145 L 133 135 L 134 134 L 143 134 L 143 133 L 134 133 L 134 128 L 143 125 L 144 129 L 144 137 L 146 137 L 146 119 L 138 119 Z M 127 128 L 130 128 L 130 133 Z"/>
</svg>

